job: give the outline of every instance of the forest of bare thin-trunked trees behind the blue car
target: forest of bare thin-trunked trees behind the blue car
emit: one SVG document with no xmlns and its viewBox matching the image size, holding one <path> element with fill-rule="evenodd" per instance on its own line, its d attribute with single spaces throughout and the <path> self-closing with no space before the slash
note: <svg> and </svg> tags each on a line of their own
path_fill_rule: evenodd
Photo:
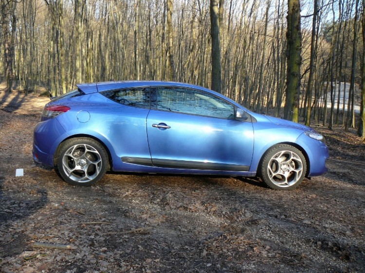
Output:
<svg viewBox="0 0 365 273">
<path fill-rule="evenodd" d="M 179 81 L 365 140 L 365 0 L 0 0 L 0 9 L 7 91 Z"/>
</svg>

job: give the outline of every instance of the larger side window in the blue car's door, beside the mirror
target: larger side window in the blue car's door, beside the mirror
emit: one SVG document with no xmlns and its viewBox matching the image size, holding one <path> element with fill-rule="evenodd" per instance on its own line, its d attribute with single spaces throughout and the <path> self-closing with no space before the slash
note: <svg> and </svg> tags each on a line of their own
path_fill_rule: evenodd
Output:
<svg viewBox="0 0 365 273">
<path fill-rule="evenodd" d="M 153 108 L 164 111 L 233 119 L 234 106 L 209 93 L 179 87 L 158 87 Z"/>
</svg>

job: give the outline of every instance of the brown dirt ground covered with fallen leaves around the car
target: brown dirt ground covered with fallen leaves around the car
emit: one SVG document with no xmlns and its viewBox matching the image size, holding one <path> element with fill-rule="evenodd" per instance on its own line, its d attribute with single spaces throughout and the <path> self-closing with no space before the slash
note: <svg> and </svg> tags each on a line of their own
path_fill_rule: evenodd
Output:
<svg viewBox="0 0 365 273">
<path fill-rule="evenodd" d="M 0 272 L 365 272 L 355 131 L 315 127 L 329 172 L 289 192 L 252 178 L 115 173 L 80 188 L 33 162 L 47 101 L 0 92 Z"/>
</svg>

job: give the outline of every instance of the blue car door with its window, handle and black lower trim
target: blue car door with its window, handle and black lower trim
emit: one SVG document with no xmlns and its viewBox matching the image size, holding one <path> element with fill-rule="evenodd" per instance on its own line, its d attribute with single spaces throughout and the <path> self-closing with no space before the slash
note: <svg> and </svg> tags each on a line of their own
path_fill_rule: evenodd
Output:
<svg viewBox="0 0 365 273">
<path fill-rule="evenodd" d="M 254 149 L 253 126 L 252 122 L 234 119 L 234 105 L 189 88 L 158 87 L 154 95 L 146 122 L 154 166 L 249 170 Z"/>
</svg>

